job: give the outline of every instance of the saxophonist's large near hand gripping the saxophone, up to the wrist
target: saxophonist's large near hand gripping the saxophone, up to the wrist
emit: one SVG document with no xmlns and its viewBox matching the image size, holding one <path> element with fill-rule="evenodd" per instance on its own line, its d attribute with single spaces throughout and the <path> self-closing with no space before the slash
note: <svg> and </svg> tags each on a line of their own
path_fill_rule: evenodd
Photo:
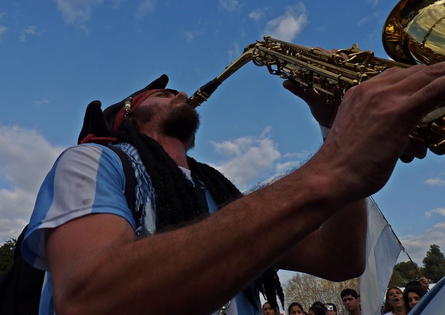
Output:
<svg viewBox="0 0 445 315">
<path fill-rule="evenodd" d="M 383 187 L 408 147 L 408 135 L 444 95 L 445 62 L 391 68 L 349 89 L 316 154 L 341 169 L 338 184 L 345 187 L 336 189 L 354 191 L 357 198 Z"/>
</svg>

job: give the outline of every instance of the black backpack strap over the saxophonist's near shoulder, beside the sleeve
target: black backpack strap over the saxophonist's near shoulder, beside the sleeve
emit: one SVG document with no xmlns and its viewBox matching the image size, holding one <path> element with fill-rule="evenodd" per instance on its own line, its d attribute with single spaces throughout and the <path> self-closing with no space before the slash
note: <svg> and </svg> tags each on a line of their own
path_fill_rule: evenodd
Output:
<svg viewBox="0 0 445 315">
<path fill-rule="evenodd" d="M 134 223 L 136 224 L 136 228 L 140 225 L 140 211 L 136 211 L 136 175 L 134 175 L 134 168 L 130 160 L 128 159 L 127 154 L 125 154 L 122 150 L 118 149 L 113 145 L 107 145 L 109 149 L 114 151 L 122 162 L 122 169 L 124 170 L 125 175 L 125 198 L 127 199 L 128 207 L 132 211 Z"/>
</svg>

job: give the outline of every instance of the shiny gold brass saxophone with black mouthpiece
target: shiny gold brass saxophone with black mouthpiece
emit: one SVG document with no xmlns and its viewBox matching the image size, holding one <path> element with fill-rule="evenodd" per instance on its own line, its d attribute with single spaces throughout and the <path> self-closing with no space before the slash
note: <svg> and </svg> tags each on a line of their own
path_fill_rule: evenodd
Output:
<svg viewBox="0 0 445 315">
<path fill-rule="evenodd" d="M 296 81 L 316 93 L 325 93 L 326 102 L 330 103 L 342 99 L 349 88 L 388 68 L 445 61 L 444 34 L 445 0 L 401 0 L 388 16 L 382 35 L 385 50 L 396 61 L 375 57 L 372 51 L 360 50 L 357 45 L 332 54 L 265 36 L 264 41 L 247 45 L 241 56 L 195 91 L 187 103 L 193 107 L 201 105 L 225 79 L 249 61 L 266 66 L 270 74 Z M 439 155 L 445 154 L 444 106 L 440 104 L 427 113 L 410 135 Z"/>
</svg>

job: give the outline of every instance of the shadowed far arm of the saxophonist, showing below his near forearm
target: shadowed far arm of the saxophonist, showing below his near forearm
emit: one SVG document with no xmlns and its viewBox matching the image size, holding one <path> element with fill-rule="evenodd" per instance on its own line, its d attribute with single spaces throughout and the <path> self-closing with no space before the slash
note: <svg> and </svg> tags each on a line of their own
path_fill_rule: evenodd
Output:
<svg viewBox="0 0 445 315">
<path fill-rule="evenodd" d="M 289 250 L 276 267 L 310 273 L 331 281 L 356 277 L 363 272 L 365 265 L 366 229 L 366 202 L 363 199 L 333 214 L 320 228 Z"/>
</svg>

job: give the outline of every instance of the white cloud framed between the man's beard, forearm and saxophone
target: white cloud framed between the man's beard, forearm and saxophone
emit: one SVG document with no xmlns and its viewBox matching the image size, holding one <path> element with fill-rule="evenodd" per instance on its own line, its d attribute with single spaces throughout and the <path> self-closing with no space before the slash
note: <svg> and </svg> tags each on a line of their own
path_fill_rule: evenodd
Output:
<svg viewBox="0 0 445 315">
<path fill-rule="evenodd" d="M 224 158 L 212 166 L 242 190 L 260 180 L 260 185 L 266 184 L 277 175 L 299 166 L 301 160 L 286 161 L 298 154 L 287 153 L 285 158 L 278 151 L 277 144 L 269 137 L 269 132 L 270 127 L 266 127 L 260 136 L 243 136 L 219 143 L 211 141 L 215 152 Z"/>
</svg>

